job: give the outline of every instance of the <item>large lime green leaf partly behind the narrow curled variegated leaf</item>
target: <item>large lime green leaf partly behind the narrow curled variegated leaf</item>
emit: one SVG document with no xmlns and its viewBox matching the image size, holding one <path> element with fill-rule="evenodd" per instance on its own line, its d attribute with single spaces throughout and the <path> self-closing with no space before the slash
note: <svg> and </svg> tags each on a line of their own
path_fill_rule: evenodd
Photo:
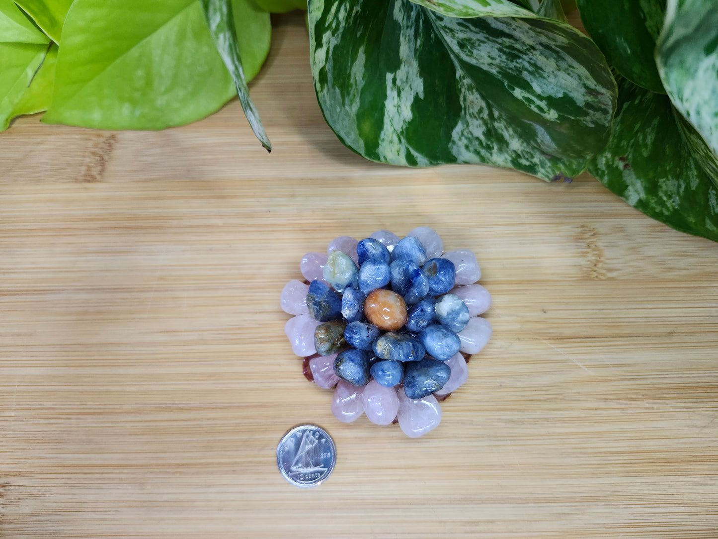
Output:
<svg viewBox="0 0 718 539">
<path fill-rule="evenodd" d="M 236 11 L 246 12 L 243 6 Z M 266 44 L 266 54 L 269 14 L 253 17 L 241 24 L 240 48 L 254 42 L 250 52 L 261 52 Z M 262 61 L 264 55 L 246 55 L 248 78 Z M 212 114 L 235 91 L 198 1 L 75 0 L 62 28 L 52 103 L 42 121 L 163 129 Z"/>
</svg>

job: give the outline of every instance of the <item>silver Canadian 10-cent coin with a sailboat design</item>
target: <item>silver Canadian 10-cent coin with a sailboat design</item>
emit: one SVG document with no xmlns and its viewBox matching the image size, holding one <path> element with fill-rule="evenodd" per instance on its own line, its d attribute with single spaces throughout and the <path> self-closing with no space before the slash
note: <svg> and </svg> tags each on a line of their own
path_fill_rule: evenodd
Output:
<svg viewBox="0 0 718 539">
<path fill-rule="evenodd" d="M 325 482 L 337 461 L 332 437 L 317 425 L 289 430 L 276 448 L 276 464 L 284 479 L 297 487 L 316 487 Z"/>
</svg>

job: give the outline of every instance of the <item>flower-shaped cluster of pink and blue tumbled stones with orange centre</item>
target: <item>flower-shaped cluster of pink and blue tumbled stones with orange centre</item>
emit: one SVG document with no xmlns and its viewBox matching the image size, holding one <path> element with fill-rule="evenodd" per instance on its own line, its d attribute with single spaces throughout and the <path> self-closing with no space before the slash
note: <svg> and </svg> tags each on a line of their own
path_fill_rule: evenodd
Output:
<svg viewBox="0 0 718 539">
<path fill-rule="evenodd" d="M 340 236 L 326 255 L 306 254 L 306 281 L 282 290 L 281 308 L 295 315 L 284 328 L 292 350 L 308 359 L 319 387 L 335 388 L 340 421 L 366 413 L 421 436 L 441 420 L 437 397 L 467 379 L 462 353 L 488 342 L 491 326 L 479 315 L 491 296 L 475 284 L 481 272 L 470 250 L 443 249 L 426 226 L 404 239 L 386 230 L 361 241 Z"/>
</svg>

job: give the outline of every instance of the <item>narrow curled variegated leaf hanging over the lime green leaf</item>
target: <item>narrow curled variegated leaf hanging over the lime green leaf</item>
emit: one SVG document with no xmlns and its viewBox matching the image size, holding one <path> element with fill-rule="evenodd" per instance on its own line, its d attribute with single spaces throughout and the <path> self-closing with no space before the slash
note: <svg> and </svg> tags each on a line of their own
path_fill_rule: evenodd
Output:
<svg viewBox="0 0 718 539">
<path fill-rule="evenodd" d="M 230 0 L 201 0 L 200 3 L 202 4 L 202 10 L 205 12 L 207 24 L 210 27 L 210 34 L 212 34 L 215 45 L 217 45 L 217 50 L 234 79 L 239 101 L 242 103 L 242 109 L 245 116 L 247 116 L 249 125 L 262 143 L 262 146 L 268 152 L 271 152 L 271 143 L 266 132 L 264 132 L 259 113 L 251 98 L 249 98 L 249 88 L 247 88 L 247 82 L 244 79 L 244 70 L 232 18 L 232 4 Z"/>
</svg>

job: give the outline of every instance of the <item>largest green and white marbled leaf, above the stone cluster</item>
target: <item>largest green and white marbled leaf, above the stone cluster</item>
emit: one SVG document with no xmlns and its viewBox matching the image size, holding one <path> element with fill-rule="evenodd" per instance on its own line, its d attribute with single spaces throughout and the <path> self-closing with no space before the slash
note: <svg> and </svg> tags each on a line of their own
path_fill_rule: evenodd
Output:
<svg viewBox="0 0 718 539">
<path fill-rule="evenodd" d="M 402 0 L 309 0 L 325 119 L 373 161 L 576 175 L 605 147 L 615 81 L 587 37 L 531 17 L 459 19 Z"/>
</svg>

